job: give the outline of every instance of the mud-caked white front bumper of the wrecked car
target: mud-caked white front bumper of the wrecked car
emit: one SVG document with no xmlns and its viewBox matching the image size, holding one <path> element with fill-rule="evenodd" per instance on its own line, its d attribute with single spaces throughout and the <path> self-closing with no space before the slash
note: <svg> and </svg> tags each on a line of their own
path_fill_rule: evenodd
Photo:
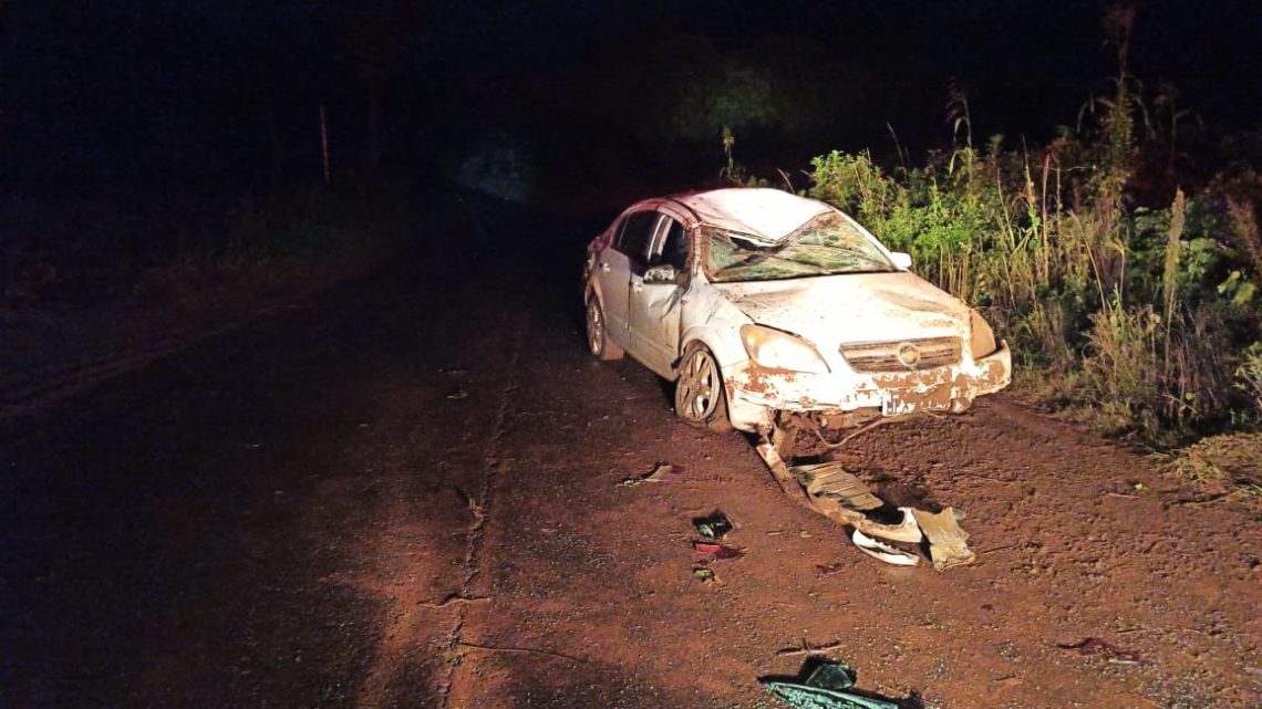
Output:
<svg viewBox="0 0 1262 709">
<path fill-rule="evenodd" d="M 1007 343 L 976 361 L 923 371 L 809 373 L 767 370 L 752 361 L 724 372 L 728 415 L 742 430 L 770 426 L 777 411 L 844 414 L 876 409 L 895 416 L 944 411 L 1000 391 L 1012 381 Z"/>
</svg>

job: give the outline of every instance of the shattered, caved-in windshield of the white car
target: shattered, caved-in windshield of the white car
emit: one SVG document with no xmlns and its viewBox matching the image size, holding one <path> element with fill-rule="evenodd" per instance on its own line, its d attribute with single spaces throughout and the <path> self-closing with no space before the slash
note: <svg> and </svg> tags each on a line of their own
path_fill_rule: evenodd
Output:
<svg viewBox="0 0 1262 709">
<path fill-rule="evenodd" d="M 777 280 L 896 270 L 872 241 L 837 212 L 819 214 L 789 236 L 769 240 L 703 227 L 711 281 Z"/>
</svg>

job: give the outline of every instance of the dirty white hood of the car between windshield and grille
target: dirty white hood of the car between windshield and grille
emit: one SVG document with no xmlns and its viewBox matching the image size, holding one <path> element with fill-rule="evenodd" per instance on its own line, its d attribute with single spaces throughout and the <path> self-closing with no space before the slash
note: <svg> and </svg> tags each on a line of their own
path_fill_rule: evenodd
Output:
<svg viewBox="0 0 1262 709">
<path fill-rule="evenodd" d="M 965 336 L 968 307 L 911 272 L 718 283 L 753 322 L 814 342 Z"/>
</svg>

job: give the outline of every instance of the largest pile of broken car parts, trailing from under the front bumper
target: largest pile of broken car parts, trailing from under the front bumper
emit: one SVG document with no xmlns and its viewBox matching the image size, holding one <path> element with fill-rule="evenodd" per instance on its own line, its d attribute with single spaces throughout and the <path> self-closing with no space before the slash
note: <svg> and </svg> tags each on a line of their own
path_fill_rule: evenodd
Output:
<svg viewBox="0 0 1262 709">
<path fill-rule="evenodd" d="M 851 527 L 854 545 L 875 559 L 904 566 L 919 563 L 919 556 L 876 537 L 907 544 L 928 540 L 930 560 L 939 571 L 972 564 L 977 559 L 968 549 L 968 534 L 959 527 L 964 515 L 958 510 L 948 507 L 935 513 L 915 507 L 895 507 L 873 495 L 838 462 L 790 467 L 767 437 L 760 439 L 757 450 L 786 495 Z"/>
</svg>

